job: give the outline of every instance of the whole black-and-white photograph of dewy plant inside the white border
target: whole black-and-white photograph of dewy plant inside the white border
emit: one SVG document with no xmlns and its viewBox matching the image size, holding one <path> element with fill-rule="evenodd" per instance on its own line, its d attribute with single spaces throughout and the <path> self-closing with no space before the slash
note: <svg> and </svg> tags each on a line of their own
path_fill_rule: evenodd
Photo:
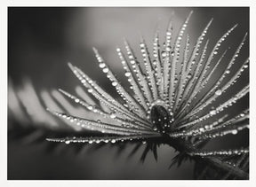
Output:
<svg viewBox="0 0 256 187">
<path fill-rule="evenodd" d="M 249 6 L 7 14 L 8 180 L 250 180 Z"/>
</svg>

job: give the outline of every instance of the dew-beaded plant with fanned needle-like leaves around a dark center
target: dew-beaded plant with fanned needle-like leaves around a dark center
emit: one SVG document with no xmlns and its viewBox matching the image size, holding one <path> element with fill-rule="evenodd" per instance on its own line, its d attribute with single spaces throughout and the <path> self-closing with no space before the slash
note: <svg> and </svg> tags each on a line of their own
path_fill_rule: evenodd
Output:
<svg viewBox="0 0 256 187">
<path fill-rule="evenodd" d="M 48 136 L 46 140 L 55 144 L 95 143 L 99 144 L 99 147 L 107 143 L 130 142 L 136 144 L 130 156 L 140 149 L 141 144 L 145 144 L 141 161 L 146 159 L 148 152 L 153 152 L 157 160 L 157 146 L 169 144 L 180 152 L 172 160 L 172 165 L 180 165 L 183 160 L 195 160 L 196 178 L 248 179 L 249 148 L 217 151 L 204 149 L 205 144 L 217 137 L 236 135 L 249 128 L 248 108 L 238 114 L 228 114 L 230 108 L 248 96 L 249 84 L 239 86 L 240 89 L 234 94 L 229 94 L 219 101 L 248 69 L 249 58 L 244 59 L 242 66 L 237 71 L 234 70 L 234 73 L 232 69 L 234 64 L 238 63 L 236 61 L 247 33 L 232 57 L 227 60 L 229 51 L 220 51 L 220 47 L 228 40 L 228 35 L 233 34 L 237 25 L 221 35 L 211 49 L 209 39 L 204 41 L 207 33 L 211 32 L 213 19 L 210 19 L 191 50 L 189 36 L 184 38 L 191 16 L 192 12 L 180 26 L 177 35 L 173 35 L 172 21 L 169 23 L 163 45 L 160 44 L 157 30 L 153 39 L 153 51 L 150 51 L 145 39 L 140 36 L 141 62 L 126 40 L 126 54 L 121 48 L 116 49 L 124 67 L 124 76 L 130 83 L 130 90 L 118 81 L 114 71 L 100 56 L 100 52 L 93 48 L 101 71 L 107 75 L 121 99 L 111 96 L 80 68 L 68 63 L 85 91 L 81 87 L 76 88 L 78 96 L 61 89 L 55 90 L 53 94 L 43 92 L 42 98 L 47 110 L 59 121 L 47 114 L 45 119 L 51 124 L 58 121 L 55 122 L 57 127 L 61 126 L 62 121 L 79 136 L 76 136 L 76 133 L 75 136 Z M 224 70 L 220 69 L 220 65 L 225 61 L 228 61 L 227 66 Z M 219 71 L 220 76 L 214 79 Z M 228 75 L 231 73 L 233 75 Z M 31 88 L 30 86 L 28 90 Z M 33 95 L 36 96 L 35 93 Z M 20 93 L 18 96 L 22 98 L 20 100 L 26 100 L 24 94 Z M 52 97 L 55 97 L 66 111 L 61 111 Z M 19 101 L 18 98 L 16 100 Z M 75 110 L 68 105 L 68 100 L 79 105 L 81 110 Z M 10 107 L 12 109 L 12 105 Z M 92 118 L 81 117 L 81 111 L 92 114 Z M 92 136 L 88 135 L 90 131 Z M 35 139 L 36 136 L 42 135 L 32 134 L 28 139 Z M 124 146 L 120 145 L 119 148 L 119 152 L 124 150 Z"/>
</svg>

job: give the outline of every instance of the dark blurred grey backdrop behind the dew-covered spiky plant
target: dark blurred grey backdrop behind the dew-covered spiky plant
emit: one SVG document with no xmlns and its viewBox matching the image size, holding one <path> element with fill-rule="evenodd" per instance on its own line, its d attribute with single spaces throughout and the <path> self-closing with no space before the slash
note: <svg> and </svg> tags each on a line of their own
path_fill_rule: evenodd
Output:
<svg viewBox="0 0 256 187">
<path fill-rule="evenodd" d="M 228 36 L 228 41 L 221 47 L 221 49 L 230 47 L 226 57 L 228 60 L 232 56 L 232 51 L 236 51 L 245 32 L 249 31 L 249 8 L 9 7 L 8 128 L 12 129 L 12 125 L 17 123 L 22 127 L 27 127 L 28 123 L 34 127 L 45 126 L 45 121 L 49 122 L 49 126 L 52 125 L 52 129 L 61 126 L 61 122 L 49 116 L 44 109 L 45 105 L 57 107 L 53 104 L 58 102 L 61 105 L 61 98 L 54 90 L 61 88 L 71 93 L 74 93 L 75 89 L 79 90 L 77 89 L 79 82 L 68 69 L 68 62 L 80 67 L 115 96 L 116 93 L 109 89 L 110 83 L 105 75 L 101 74 L 92 47 L 100 51 L 108 65 L 120 77 L 120 82 L 125 83 L 123 67 L 116 55 L 117 46 L 124 49 L 124 37 L 132 44 L 135 53 L 140 54 L 140 34 L 143 35 L 150 51 L 152 49 L 150 43 L 153 41 L 156 27 L 160 28 L 162 35 L 160 39 L 164 41 L 168 21 L 173 20 L 174 33 L 177 33 L 191 10 L 194 13 L 188 24 L 188 33 L 192 44 L 196 42 L 196 38 L 212 18 L 213 23 L 206 36 L 210 38 L 210 47 L 228 28 L 236 23 L 239 24 L 234 34 Z M 249 56 L 248 42 L 241 54 L 237 58 L 235 69 Z M 234 86 L 234 90 L 242 88 L 246 82 L 248 82 L 248 74 L 245 74 Z M 232 91 L 231 89 L 230 92 Z M 50 98 L 55 99 L 55 102 L 49 103 Z M 62 107 L 65 107 L 63 105 Z M 69 107 L 75 107 L 72 111 L 77 112 L 76 105 Z M 238 103 L 233 110 L 241 110 L 245 107 L 248 107 L 248 98 Z M 79 111 L 79 114 L 83 117 L 84 111 Z M 248 133 L 242 132 L 224 142 L 220 138 L 210 146 L 216 148 L 221 142 L 222 146 L 230 147 L 234 145 L 234 139 L 237 142 L 236 146 L 248 144 Z M 91 152 L 90 148 L 86 147 L 83 153 L 77 155 L 69 149 L 61 153 L 45 152 L 47 143 L 25 143 L 26 141 L 20 142 L 15 141 L 15 138 L 8 138 L 8 179 L 193 178 L 193 162 L 187 161 L 180 168 L 168 169 L 175 152 L 165 145 L 159 147 L 157 162 L 150 153 L 142 164 L 140 151 L 132 159 L 127 160 L 132 146 L 128 146 L 119 157 L 116 157 L 116 148 L 109 149 L 108 146 L 95 152 Z M 61 149 L 66 149 L 67 146 L 71 144 L 64 144 Z"/>
</svg>

